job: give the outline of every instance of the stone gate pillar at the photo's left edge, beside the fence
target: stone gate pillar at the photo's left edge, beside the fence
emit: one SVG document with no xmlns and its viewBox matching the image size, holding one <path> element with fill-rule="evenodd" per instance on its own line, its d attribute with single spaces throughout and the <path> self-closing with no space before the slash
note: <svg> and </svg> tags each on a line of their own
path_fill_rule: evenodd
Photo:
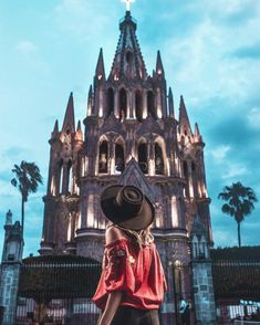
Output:
<svg viewBox="0 0 260 325">
<path fill-rule="evenodd" d="M 2 325 L 13 325 L 17 313 L 19 275 L 23 238 L 20 222 L 4 226 L 4 242 L 0 279 L 0 306 L 4 308 Z"/>
</svg>

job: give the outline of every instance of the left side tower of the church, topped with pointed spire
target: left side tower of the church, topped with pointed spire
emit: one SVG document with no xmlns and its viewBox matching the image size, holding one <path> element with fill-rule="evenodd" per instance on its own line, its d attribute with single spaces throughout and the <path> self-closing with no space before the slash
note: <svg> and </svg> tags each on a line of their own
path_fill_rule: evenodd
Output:
<svg viewBox="0 0 260 325">
<path fill-rule="evenodd" d="M 79 222 L 77 159 L 83 148 L 81 122 L 75 128 L 74 102 L 71 93 L 61 130 L 58 120 L 50 139 L 48 192 L 41 254 L 75 252 L 74 232 Z"/>
</svg>

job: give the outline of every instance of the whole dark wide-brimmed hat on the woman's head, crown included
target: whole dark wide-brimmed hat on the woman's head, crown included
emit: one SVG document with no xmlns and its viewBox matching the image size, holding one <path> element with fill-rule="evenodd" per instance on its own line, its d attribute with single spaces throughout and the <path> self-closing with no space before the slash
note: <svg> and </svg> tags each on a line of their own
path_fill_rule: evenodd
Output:
<svg viewBox="0 0 260 325">
<path fill-rule="evenodd" d="M 155 217 L 153 203 L 135 186 L 105 188 L 101 195 L 101 208 L 110 221 L 131 230 L 147 228 Z"/>
</svg>

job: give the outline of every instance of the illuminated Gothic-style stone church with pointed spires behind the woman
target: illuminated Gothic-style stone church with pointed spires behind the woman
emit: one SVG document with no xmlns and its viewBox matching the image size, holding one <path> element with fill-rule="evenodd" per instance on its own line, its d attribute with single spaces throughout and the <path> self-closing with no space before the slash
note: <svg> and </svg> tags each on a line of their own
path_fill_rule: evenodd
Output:
<svg viewBox="0 0 260 325">
<path fill-rule="evenodd" d="M 73 94 L 62 127 L 54 125 L 40 253 L 101 262 L 106 227 L 101 192 L 114 184 L 137 186 L 156 210 L 153 233 L 168 282 L 162 313 L 170 317 L 180 296 L 193 300 L 193 251 L 205 256 L 212 244 L 205 144 L 198 125 L 190 126 L 183 96 L 175 112 L 159 51 L 147 73 L 136 29 L 126 11 L 108 75 L 101 50 L 84 127 L 75 124 Z M 193 234 L 198 219 L 202 242 Z"/>
</svg>

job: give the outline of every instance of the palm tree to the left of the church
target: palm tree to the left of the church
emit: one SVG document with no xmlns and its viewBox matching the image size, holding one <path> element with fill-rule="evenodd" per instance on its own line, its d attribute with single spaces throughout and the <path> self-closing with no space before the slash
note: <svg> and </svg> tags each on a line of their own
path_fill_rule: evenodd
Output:
<svg viewBox="0 0 260 325">
<path fill-rule="evenodd" d="M 15 177 L 11 185 L 17 187 L 22 196 L 22 232 L 24 228 L 24 203 L 28 201 L 30 193 L 35 193 L 38 185 L 42 184 L 42 176 L 39 167 L 34 162 L 21 161 L 21 165 L 14 165 L 12 172 Z"/>
</svg>

